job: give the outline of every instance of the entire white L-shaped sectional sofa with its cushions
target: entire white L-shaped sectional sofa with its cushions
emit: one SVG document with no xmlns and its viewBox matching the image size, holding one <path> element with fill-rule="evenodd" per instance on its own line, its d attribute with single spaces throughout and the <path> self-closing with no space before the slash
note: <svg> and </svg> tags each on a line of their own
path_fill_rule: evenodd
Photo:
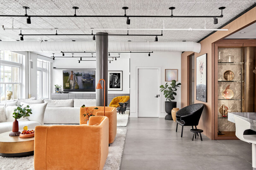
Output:
<svg viewBox="0 0 256 170">
<path fill-rule="evenodd" d="M 34 129 L 38 125 L 44 124 L 79 124 L 80 107 L 96 106 L 96 99 L 68 99 L 68 100 L 50 100 L 50 99 L 19 99 L 11 102 L 0 103 L 0 133 L 12 130 L 14 121 L 10 121 L 13 111 L 6 113 L 6 108 L 15 108 L 15 105 L 30 105 L 32 115 L 26 117 L 25 120 L 18 119 L 19 129 L 24 126 Z M 9 121 L 8 121 L 9 118 Z"/>
</svg>

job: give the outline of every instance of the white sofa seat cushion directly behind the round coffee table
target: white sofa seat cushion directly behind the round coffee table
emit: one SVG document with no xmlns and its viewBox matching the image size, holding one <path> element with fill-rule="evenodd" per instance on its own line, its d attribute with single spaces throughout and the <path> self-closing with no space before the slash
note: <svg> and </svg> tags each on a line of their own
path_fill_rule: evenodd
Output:
<svg viewBox="0 0 256 170">
<path fill-rule="evenodd" d="M 19 119 L 18 119 L 19 121 Z M 0 123 L 0 133 L 12 131 L 12 124 L 13 122 L 1 122 Z M 34 121 L 19 121 L 19 129 L 20 132 L 23 129 L 24 126 L 27 126 L 29 129 L 35 129 L 36 126 L 40 126 L 41 124 L 39 122 Z"/>
</svg>

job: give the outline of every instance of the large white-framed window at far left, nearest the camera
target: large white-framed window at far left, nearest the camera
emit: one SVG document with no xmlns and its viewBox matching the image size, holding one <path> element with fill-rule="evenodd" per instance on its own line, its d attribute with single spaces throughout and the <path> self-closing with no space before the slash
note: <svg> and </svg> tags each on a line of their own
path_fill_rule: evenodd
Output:
<svg viewBox="0 0 256 170">
<path fill-rule="evenodd" d="M 0 100 L 20 98 L 21 95 L 21 57 L 10 51 L 0 51 Z"/>
</svg>

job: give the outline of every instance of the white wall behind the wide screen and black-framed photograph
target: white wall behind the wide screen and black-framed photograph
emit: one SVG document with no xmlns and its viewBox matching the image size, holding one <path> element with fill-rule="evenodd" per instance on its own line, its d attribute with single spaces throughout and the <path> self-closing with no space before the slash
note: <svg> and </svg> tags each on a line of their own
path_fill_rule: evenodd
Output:
<svg viewBox="0 0 256 170">
<path fill-rule="evenodd" d="M 118 54 L 112 53 L 111 56 L 118 56 Z M 111 63 L 108 63 L 109 71 L 123 71 L 123 91 L 108 91 L 108 93 L 121 93 L 121 94 L 130 93 L 130 89 L 129 89 L 129 84 L 130 84 L 129 59 L 130 58 L 129 57 L 130 57 L 129 53 L 127 54 L 121 53 L 120 58 L 117 58 L 117 60 L 114 60 L 114 61 L 111 61 Z M 65 68 L 65 70 L 69 70 L 70 68 L 72 69 L 75 69 L 75 68 L 95 69 L 96 68 L 96 61 L 81 61 L 80 63 L 78 63 L 77 59 L 79 58 L 75 58 L 75 59 L 55 58 L 54 63 L 52 65 L 53 67 L 56 67 L 56 68 Z M 87 59 L 90 59 L 90 58 L 87 58 Z M 93 58 L 93 59 L 95 60 L 96 58 Z M 109 58 L 109 60 L 112 60 L 112 58 Z M 52 92 L 55 91 L 54 84 L 63 86 L 63 77 L 62 77 L 63 70 L 59 70 L 59 69 L 52 70 Z M 63 89 L 61 88 L 61 90 Z M 73 92 L 73 93 L 96 93 L 96 92 Z"/>
</svg>

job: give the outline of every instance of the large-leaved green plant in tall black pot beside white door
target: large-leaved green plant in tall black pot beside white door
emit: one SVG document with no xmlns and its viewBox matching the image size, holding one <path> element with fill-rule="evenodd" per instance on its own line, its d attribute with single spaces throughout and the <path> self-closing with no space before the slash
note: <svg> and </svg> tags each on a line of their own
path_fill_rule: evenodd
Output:
<svg viewBox="0 0 256 170">
<path fill-rule="evenodd" d="M 175 91 L 177 91 L 177 87 L 180 87 L 181 83 L 176 84 L 175 80 L 172 80 L 172 83 L 170 84 L 170 87 L 166 83 L 165 86 L 160 86 L 160 91 L 164 92 L 164 97 L 166 98 L 165 101 L 165 112 L 168 113 L 168 115 L 165 116 L 166 120 L 173 120 L 172 118 L 172 109 L 174 107 L 177 107 L 177 102 L 172 101 L 174 100 L 174 96 L 177 95 Z M 167 101 L 168 100 L 168 101 Z"/>
</svg>

